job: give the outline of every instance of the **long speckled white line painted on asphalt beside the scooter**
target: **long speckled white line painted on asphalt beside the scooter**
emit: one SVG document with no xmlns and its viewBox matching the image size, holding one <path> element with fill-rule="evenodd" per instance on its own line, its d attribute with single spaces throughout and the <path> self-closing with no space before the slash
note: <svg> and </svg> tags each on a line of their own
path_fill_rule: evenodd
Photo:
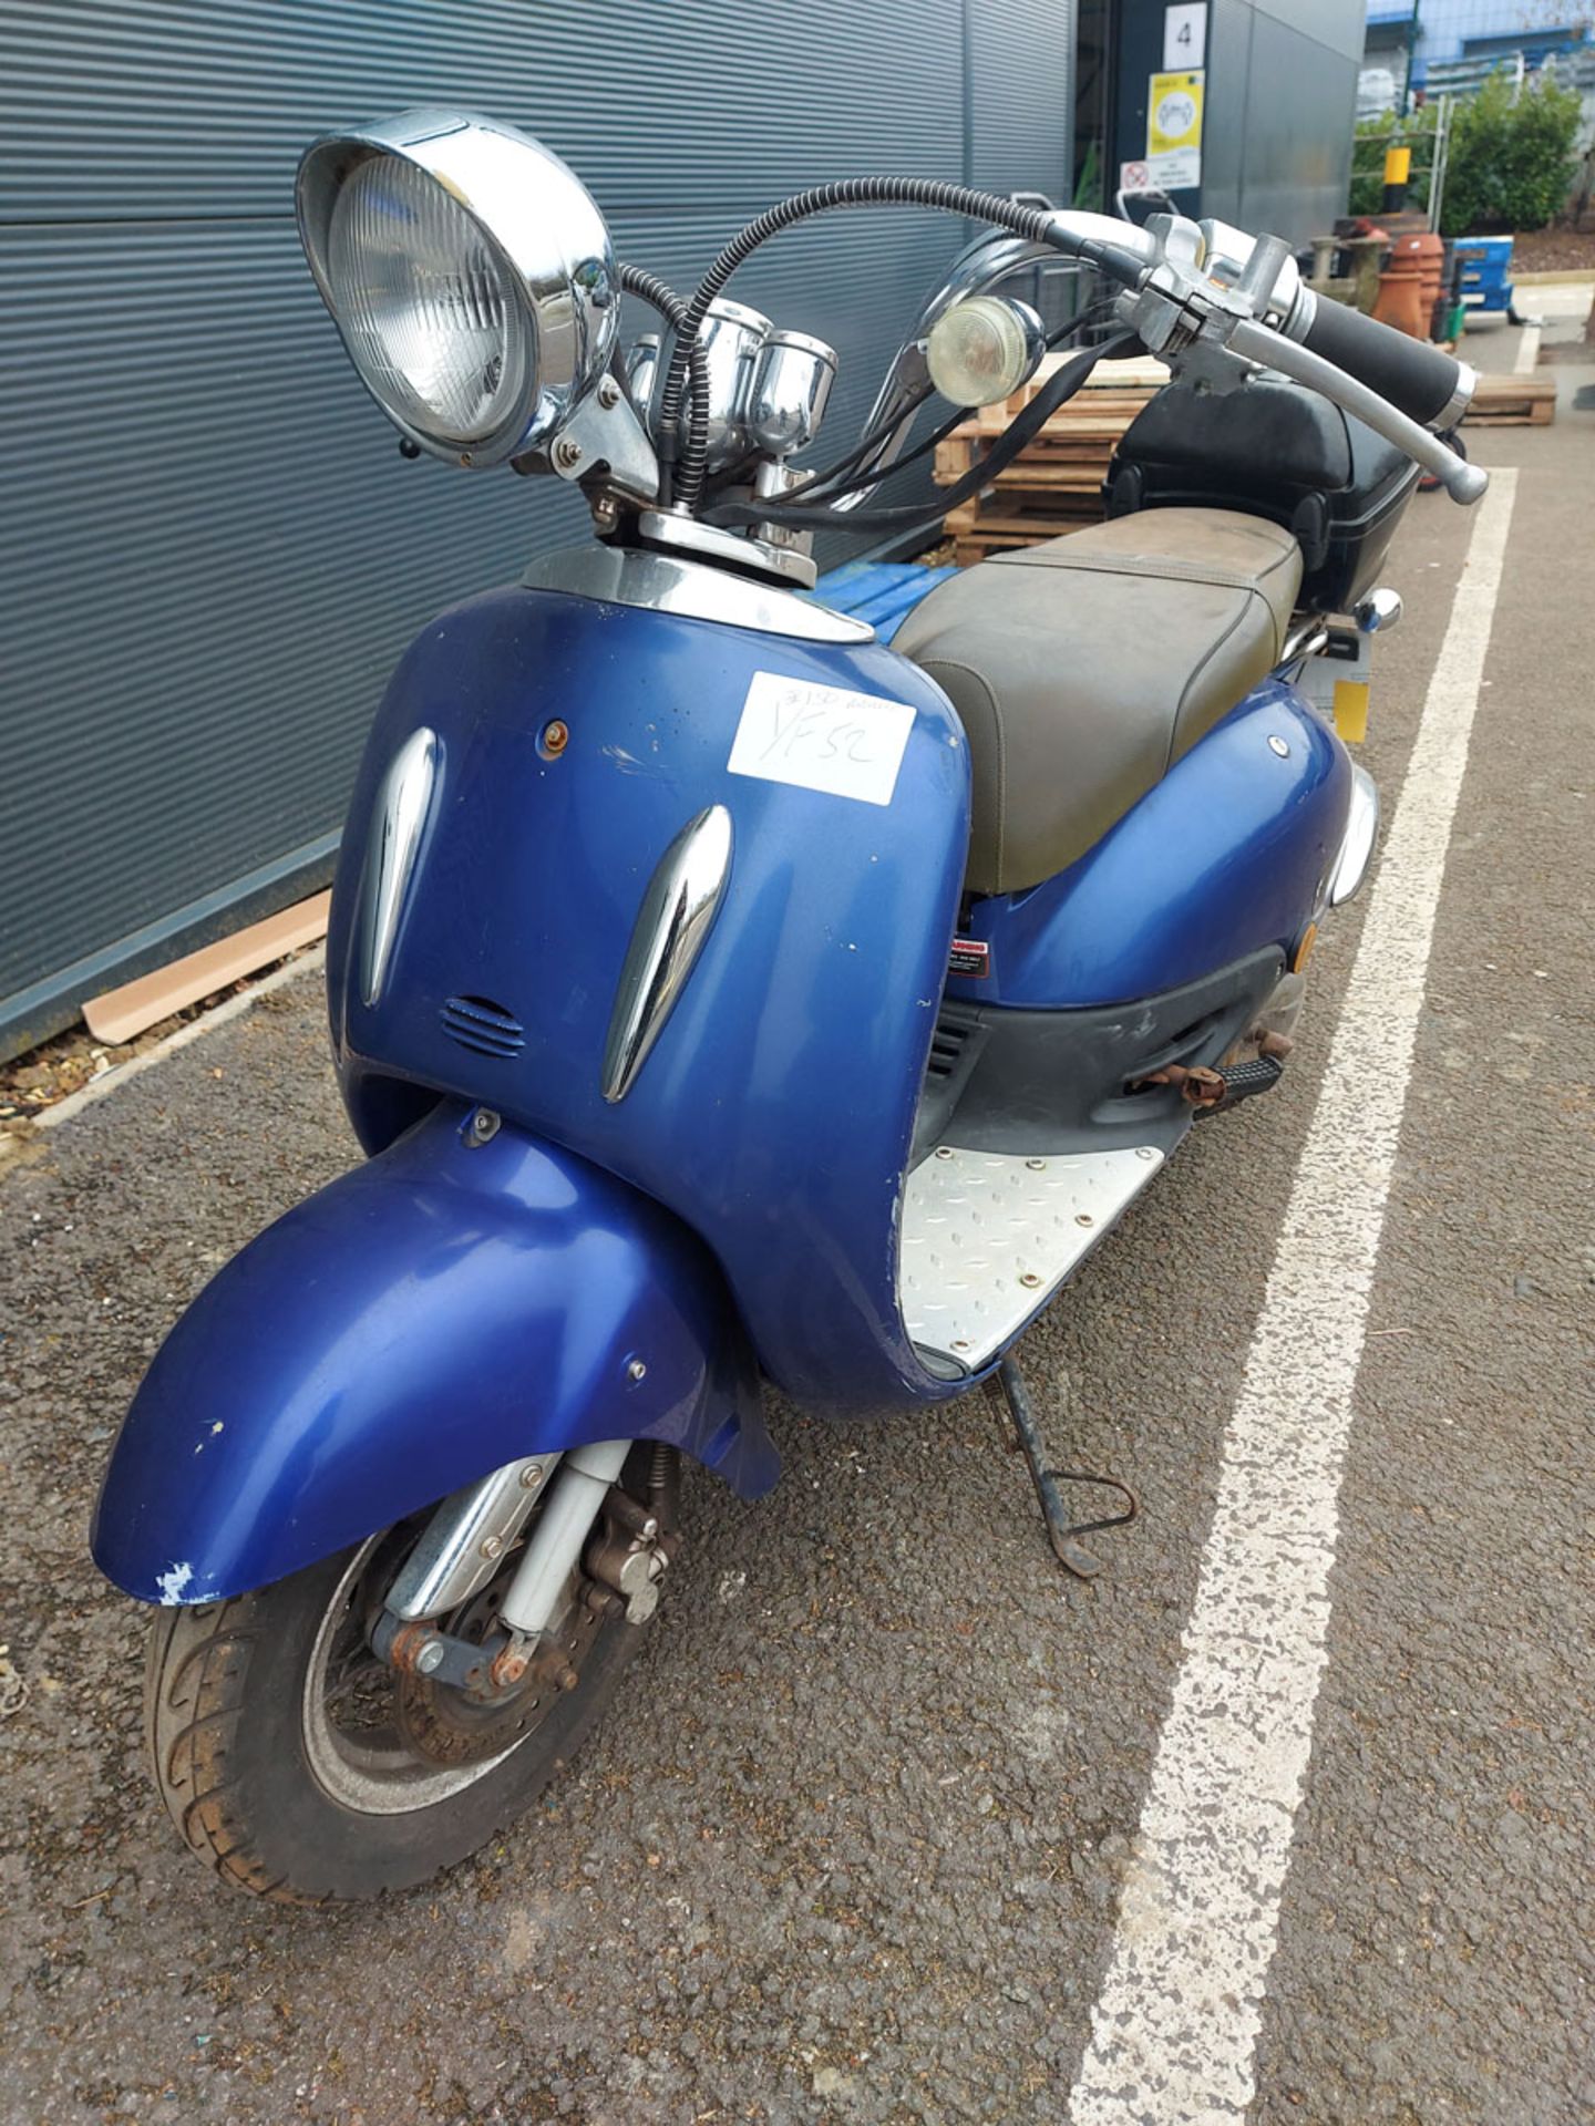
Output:
<svg viewBox="0 0 1595 2126">
<path fill-rule="evenodd" d="M 1074 2126 L 1233 2126 L 1325 1665 L 1353 1386 L 1516 472 L 1478 504 L 1229 1420 Z"/>
</svg>

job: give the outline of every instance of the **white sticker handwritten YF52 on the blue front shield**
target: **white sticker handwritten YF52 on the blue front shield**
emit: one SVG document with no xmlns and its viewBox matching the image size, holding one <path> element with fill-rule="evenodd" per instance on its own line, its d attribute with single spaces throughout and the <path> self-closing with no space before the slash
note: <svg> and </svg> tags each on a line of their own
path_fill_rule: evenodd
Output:
<svg viewBox="0 0 1595 2126">
<path fill-rule="evenodd" d="M 734 776 L 891 804 L 912 727 L 906 702 L 755 672 L 725 765 Z"/>
</svg>

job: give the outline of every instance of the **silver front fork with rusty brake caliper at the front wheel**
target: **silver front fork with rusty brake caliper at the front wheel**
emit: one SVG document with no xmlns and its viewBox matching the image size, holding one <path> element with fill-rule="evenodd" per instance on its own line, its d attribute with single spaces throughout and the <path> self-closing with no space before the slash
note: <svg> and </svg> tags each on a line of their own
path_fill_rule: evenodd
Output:
<svg viewBox="0 0 1595 2126">
<path fill-rule="evenodd" d="M 651 1503 L 642 1505 L 619 1488 L 632 1446 L 629 1439 L 600 1439 L 568 1454 L 527 1456 L 444 1499 L 372 1622 L 376 1656 L 402 1673 L 430 1675 L 491 1701 L 525 1680 L 578 1569 L 593 1582 L 591 1597 L 604 1607 L 623 1603 L 625 1620 L 644 1624 L 659 1607 L 659 1577 L 674 1550 L 666 1516 L 676 1454 L 655 1450 Z M 427 1622 L 487 1586 L 544 1490 L 542 1518 L 500 1603 L 498 1629 L 476 1643 Z M 566 1677 L 559 1673 L 551 1682 Z"/>
</svg>

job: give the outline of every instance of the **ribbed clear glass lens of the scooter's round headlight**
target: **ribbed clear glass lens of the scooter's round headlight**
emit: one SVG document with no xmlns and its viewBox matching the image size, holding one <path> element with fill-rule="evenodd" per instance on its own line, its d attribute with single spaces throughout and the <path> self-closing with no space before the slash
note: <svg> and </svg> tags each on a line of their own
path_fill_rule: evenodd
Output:
<svg viewBox="0 0 1595 2126">
<path fill-rule="evenodd" d="M 523 398 L 536 349 L 508 270 L 410 162 L 362 162 L 332 206 L 328 287 L 355 368 L 406 425 L 466 451 Z"/>
</svg>

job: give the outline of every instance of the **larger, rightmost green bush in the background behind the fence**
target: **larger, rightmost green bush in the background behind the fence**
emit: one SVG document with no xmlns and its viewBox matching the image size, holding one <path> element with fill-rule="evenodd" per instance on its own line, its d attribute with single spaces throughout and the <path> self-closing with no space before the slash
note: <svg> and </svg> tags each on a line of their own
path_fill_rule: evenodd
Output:
<svg viewBox="0 0 1595 2126">
<path fill-rule="evenodd" d="M 1567 204 L 1580 102 L 1548 74 L 1518 89 L 1497 72 L 1457 106 L 1446 157 L 1442 234 L 1542 230 Z"/>
</svg>

